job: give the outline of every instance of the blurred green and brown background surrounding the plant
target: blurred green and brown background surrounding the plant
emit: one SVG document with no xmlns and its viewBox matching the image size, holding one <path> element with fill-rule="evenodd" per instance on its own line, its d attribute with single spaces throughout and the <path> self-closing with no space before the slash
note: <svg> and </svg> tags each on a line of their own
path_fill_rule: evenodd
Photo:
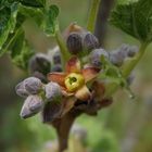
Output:
<svg viewBox="0 0 152 152">
<path fill-rule="evenodd" d="M 63 30 L 71 22 L 86 26 L 89 0 L 52 0 L 60 7 L 60 24 Z M 26 37 L 38 52 L 54 47 L 33 26 L 27 26 Z M 138 41 L 107 26 L 105 49 L 111 51 L 122 43 L 139 45 Z M 119 90 L 114 103 L 102 110 L 97 117 L 80 116 L 78 124 L 87 131 L 84 144 L 91 152 L 152 152 L 152 45 L 135 69 L 131 88 L 136 99 Z M 20 117 L 23 99 L 15 94 L 15 85 L 27 73 L 15 67 L 9 55 L 0 59 L 0 151 L 49 152 L 48 144 L 56 138 L 52 127 L 43 125 L 40 115 L 27 121 Z M 74 137 L 71 138 L 71 140 Z M 51 151 L 50 151 L 51 152 Z"/>
</svg>

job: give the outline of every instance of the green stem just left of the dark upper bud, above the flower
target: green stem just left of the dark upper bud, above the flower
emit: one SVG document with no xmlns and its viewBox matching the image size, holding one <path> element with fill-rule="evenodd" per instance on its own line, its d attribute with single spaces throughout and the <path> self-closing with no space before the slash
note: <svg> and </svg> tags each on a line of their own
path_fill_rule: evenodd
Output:
<svg viewBox="0 0 152 152">
<path fill-rule="evenodd" d="M 67 51 L 67 48 L 65 46 L 65 42 L 64 42 L 63 37 L 62 37 L 62 35 L 61 35 L 59 29 L 55 31 L 55 39 L 56 39 L 56 42 L 58 42 L 58 45 L 60 47 L 60 50 L 61 50 L 62 66 L 63 66 L 63 69 L 64 69 L 65 63 L 68 61 L 71 54 Z"/>
</svg>

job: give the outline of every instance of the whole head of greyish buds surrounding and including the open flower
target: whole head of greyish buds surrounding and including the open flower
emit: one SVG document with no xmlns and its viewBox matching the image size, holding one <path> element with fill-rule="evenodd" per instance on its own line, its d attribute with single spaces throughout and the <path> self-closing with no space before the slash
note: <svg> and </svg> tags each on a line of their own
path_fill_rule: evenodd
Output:
<svg viewBox="0 0 152 152">
<path fill-rule="evenodd" d="M 29 61 L 29 71 L 35 77 L 16 86 L 16 93 L 26 98 L 21 111 L 23 118 L 38 112 L 42 112 L 43 122 L 61 118 L 72 110 L 97 113 L 112 103 L 112 99 L 104 99 L 104 81 L 98 78 L 103 72 L 101 58 L 119 67 L 126 58 L 134 56 L 138 51 L 136 47 L 122 46 L 107 52 L 100 48 L 93 34 L 76 24 L 66 29 L 64 39 L 71 53 L 65 67 L 59 50 L 52 61 L 47 55 L 37 54 Z"/>
</svg>

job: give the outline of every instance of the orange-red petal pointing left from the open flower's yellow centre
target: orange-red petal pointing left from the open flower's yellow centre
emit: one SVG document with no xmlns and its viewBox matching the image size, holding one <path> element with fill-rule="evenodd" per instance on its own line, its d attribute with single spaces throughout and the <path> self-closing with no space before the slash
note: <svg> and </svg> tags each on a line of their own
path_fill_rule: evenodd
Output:
<svg viewBox="0 0 152 152">
<path fill-rule="evenodd" d="M 54 83 L 64 87 L 64 79 L 66 77 L 66 74 L 64 74 L 64 73 L 50 73 L 50 74 L 48 74 L 47 77 L 50 81 L 54 81 Z"/>
</svg>

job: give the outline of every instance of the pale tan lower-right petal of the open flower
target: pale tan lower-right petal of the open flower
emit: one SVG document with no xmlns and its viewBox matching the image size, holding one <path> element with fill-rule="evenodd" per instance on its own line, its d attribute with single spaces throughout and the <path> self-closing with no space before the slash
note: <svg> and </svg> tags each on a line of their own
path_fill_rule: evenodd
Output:
<svg viewBox="0 0 152 152">
<path fill-rule="evenodd" d="M 75 97 L 81 101 L 87 101 L 91 97 L 91 93 L 86 85 L 78 89 L 75 93 Z"/>
</svg>

